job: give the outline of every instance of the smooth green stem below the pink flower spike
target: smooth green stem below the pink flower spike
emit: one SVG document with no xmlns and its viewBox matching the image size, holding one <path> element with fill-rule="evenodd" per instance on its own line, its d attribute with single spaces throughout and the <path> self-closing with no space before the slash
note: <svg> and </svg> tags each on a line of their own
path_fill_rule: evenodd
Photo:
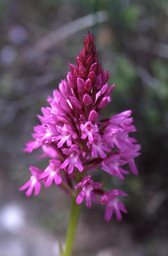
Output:
<svg viewBox="0 0 168 256">
<path fill-rule="evenodd" d="M 81 206 L 80 204 L 76 204 L 75 198 L 72 198 L 72 206 L 71 206 L 69 226 L 68 226 L 66 243 L 65 243 L 64 256 L 72 255 L 76 227 L 77 227 L 78 217 L 80 212 L 80 206 Z"/>
</svg>

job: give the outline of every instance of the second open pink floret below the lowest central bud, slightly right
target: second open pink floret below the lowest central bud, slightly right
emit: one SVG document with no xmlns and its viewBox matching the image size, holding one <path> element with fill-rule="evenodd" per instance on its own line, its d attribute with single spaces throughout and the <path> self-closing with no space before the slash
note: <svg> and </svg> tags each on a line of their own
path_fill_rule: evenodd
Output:
<svg viewBox="0 0 168 256">
<path fill-rule="evenodd" d="M 96 157 L 98 156 L 98 153 L 100 154 L 101 158 L 106 158 L 106 154 L 103 150 L 110 152 L 111 148 L 107 146 L 107 140 L 102 140 L 101 136 L 94 136 L 93 141 L 88 141 L 87 146 L 88 148 L 92 145 L 92 156 Z"/>
</svg>

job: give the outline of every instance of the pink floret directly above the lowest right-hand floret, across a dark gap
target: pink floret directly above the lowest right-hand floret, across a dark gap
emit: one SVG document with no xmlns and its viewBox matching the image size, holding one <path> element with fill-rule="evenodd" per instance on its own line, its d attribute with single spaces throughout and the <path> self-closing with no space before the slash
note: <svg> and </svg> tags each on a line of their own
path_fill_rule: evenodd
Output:
<svg viewBox="0 0 168 256">
<path fill-rule="evenodd" d="M 101 162 L 101 169 L 110 173 L 111 175 L 118 176 L 121 180 L 124 180 L 122 173 L 128 174 L 129 172 L 121 168 L 121 165 L 127 164 L 128 161 L 121 160 L 120 155 L 108 156 L 105 160 Z"/>
</svg>

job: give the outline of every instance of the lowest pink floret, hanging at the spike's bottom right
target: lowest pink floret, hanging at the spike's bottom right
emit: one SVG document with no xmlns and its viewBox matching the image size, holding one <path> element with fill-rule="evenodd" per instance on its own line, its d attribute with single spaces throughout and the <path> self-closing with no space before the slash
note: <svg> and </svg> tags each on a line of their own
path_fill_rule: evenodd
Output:
<svg viewBox="0 0 168 256">
<path fill-rule="evenodd" d="M 105 211 L 105 220 L 110 221 L 113 211 L 116 214 L 116 218 L 118 221 L 122 219 L 121 212 L 127 213 L 127 210 L 125 209 L 124 204 L 122 204 L 119 199 L 116 198 L 116 196 L 128 196 L 124 192 L 115 189 L 111 190 L 109 192 L 105 192 L 103 196 L 101 196 L 101 204 L 105 204 L 106 206 L 106 211 Z"/>
</svg>

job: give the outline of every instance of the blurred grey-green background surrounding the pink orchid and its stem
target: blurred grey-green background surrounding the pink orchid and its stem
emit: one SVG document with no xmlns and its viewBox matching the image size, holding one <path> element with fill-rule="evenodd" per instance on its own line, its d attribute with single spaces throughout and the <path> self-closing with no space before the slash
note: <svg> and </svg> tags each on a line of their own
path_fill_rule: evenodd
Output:
<svg viewBox="0 0 168 256">
<path fill-rule="evenodd" d="M 22 152 L 47 95 L 75 63 L 84 34 L 94 35 L 99 61 L 116 84 L 108 116 L 132 109 L 142 146 L 139 176 L 106 182 L 128 193 L 121 223 L 104 207 L 83 205 L 74 256 L 164 256 L 168 252 L 167 0 L 0 1 L 0 254 L 58 256 L 70 202 L 44 186 L 26 198 L 18 188 L 41 153 Z M 105 113 L 104 113 L 105 114 Z M 98 177 L 99 179 L 99 177 Z M 115 187 L 114 187 L 115 186 Z"/>
</svg>

